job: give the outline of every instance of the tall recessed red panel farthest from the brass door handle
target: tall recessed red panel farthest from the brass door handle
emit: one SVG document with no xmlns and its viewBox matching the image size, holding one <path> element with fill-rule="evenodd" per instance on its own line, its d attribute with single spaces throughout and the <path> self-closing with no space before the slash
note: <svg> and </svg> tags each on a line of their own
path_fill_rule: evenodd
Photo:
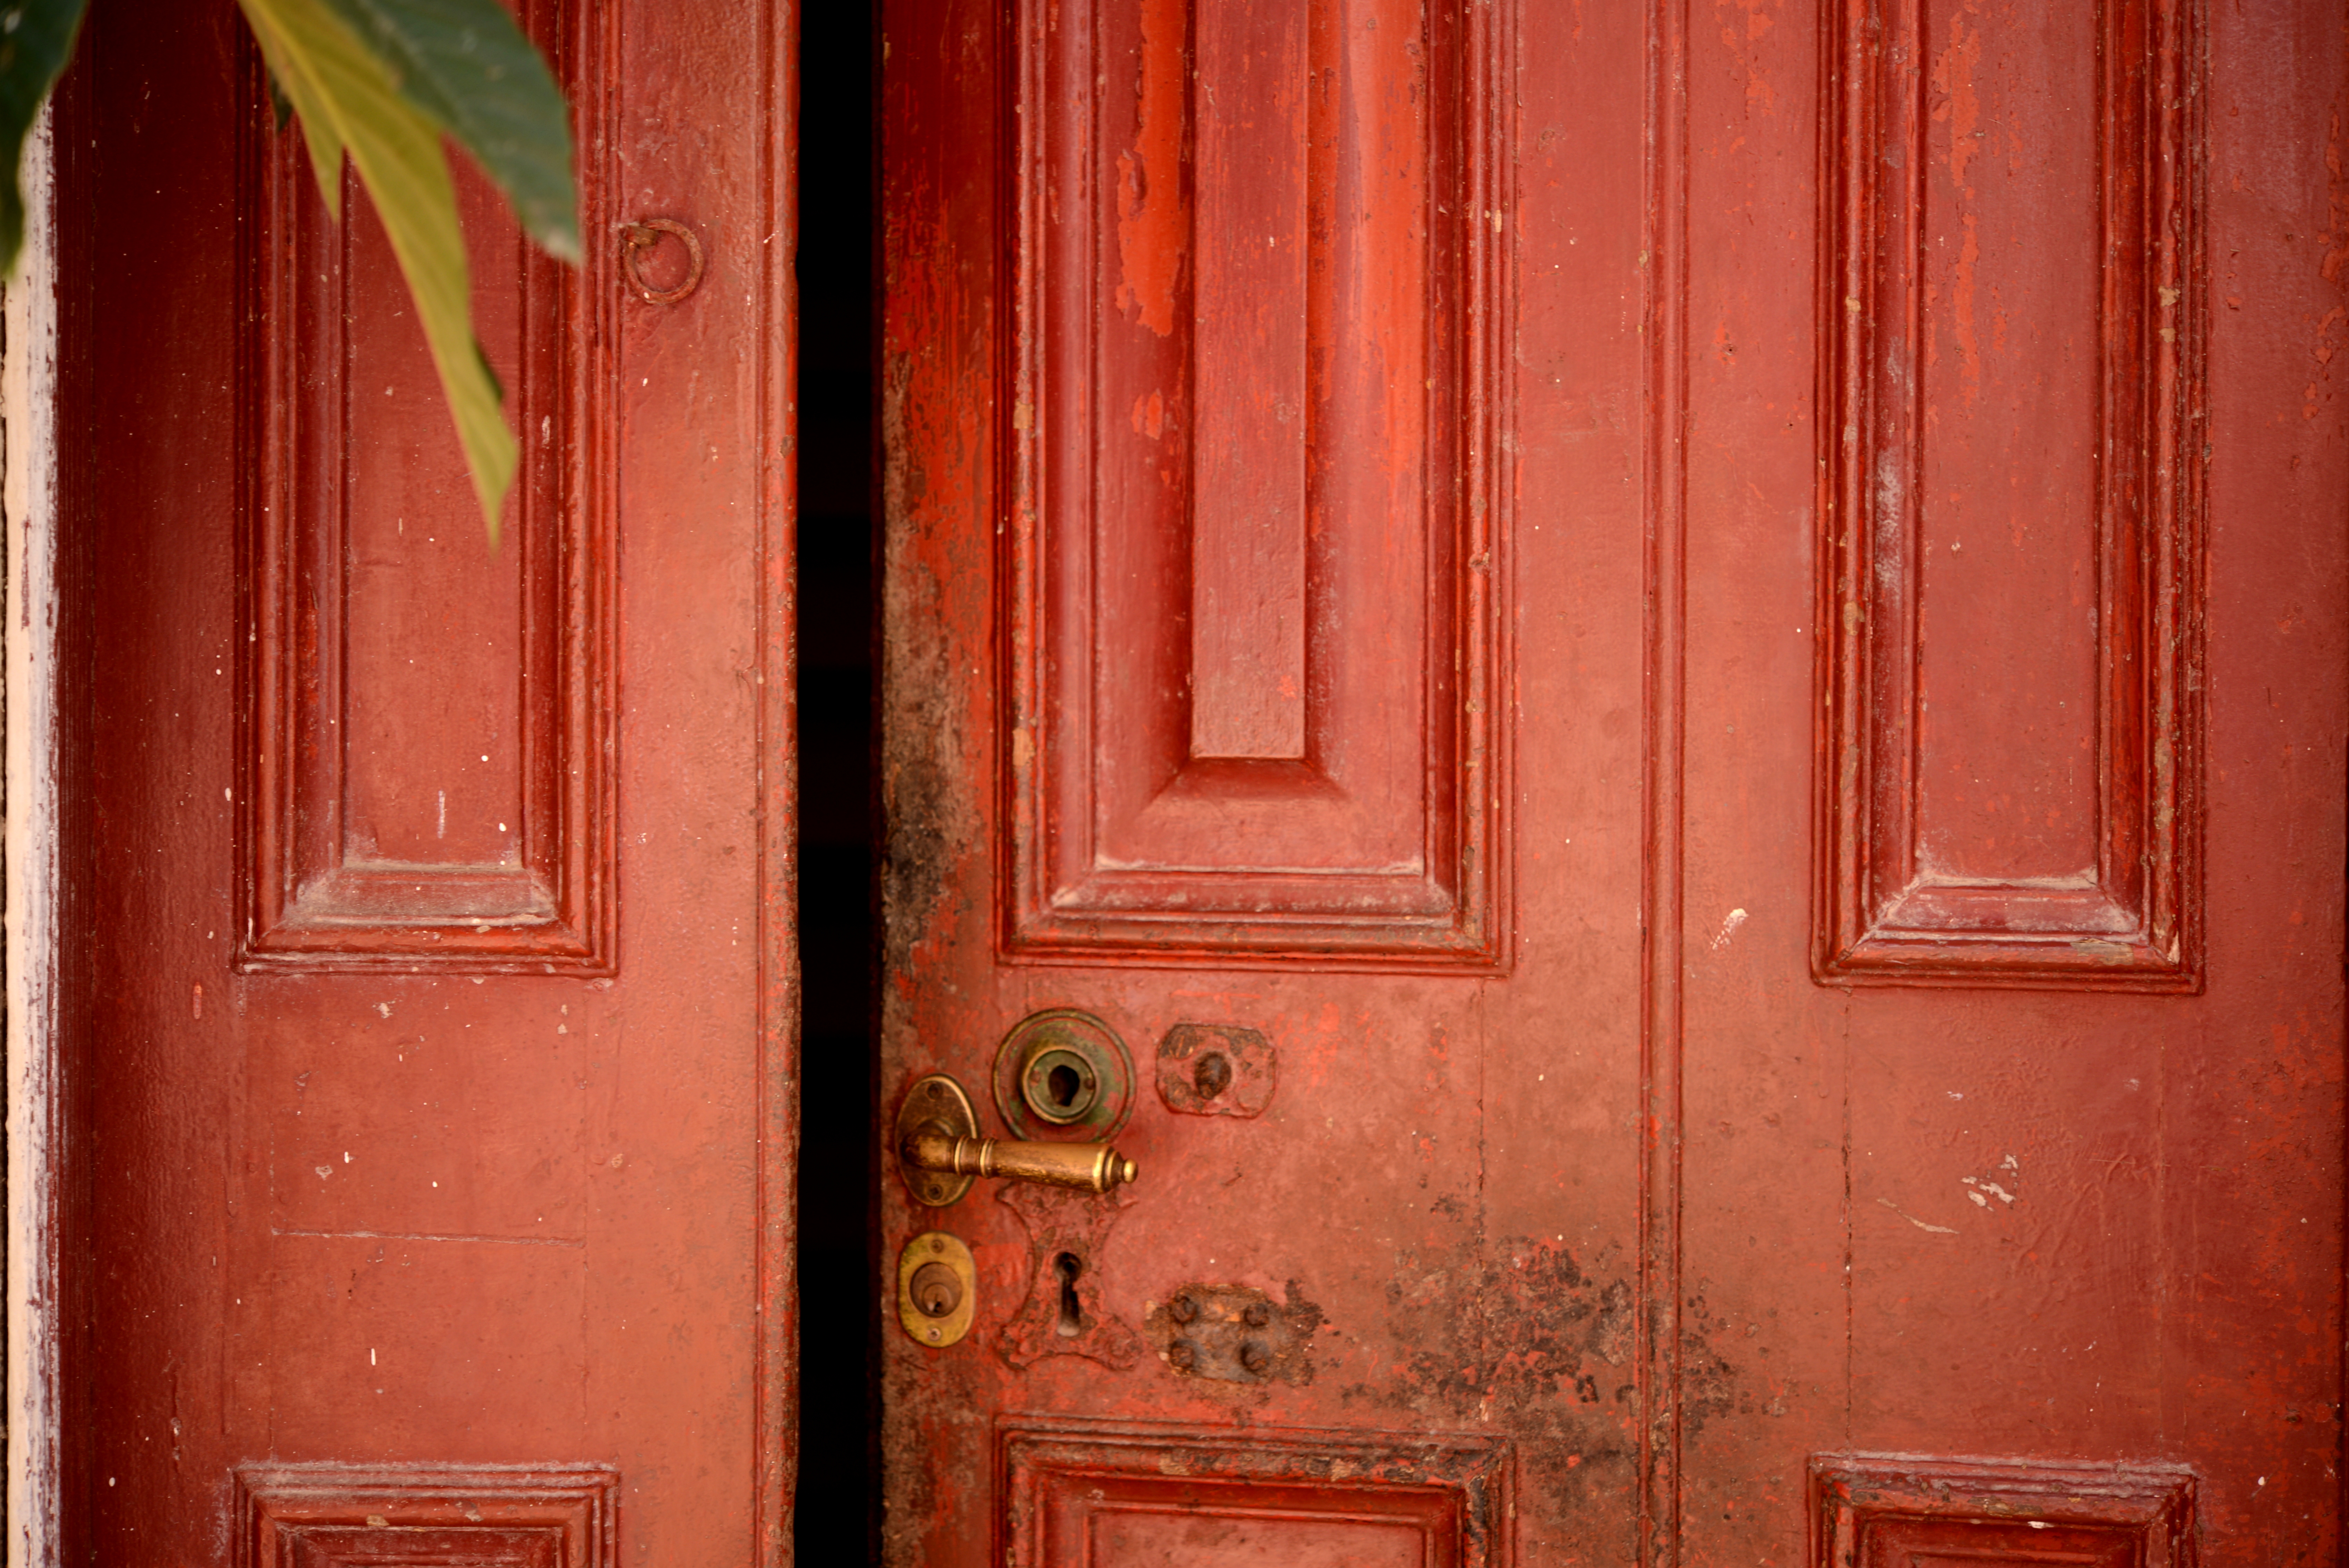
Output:
<svg viewBox="0 0 2349 1568">
<path fill-rule="evenodd" d="M 1830 7 L 1825 981 L 2201 984 L 2192 16 Z"/>
</svg>

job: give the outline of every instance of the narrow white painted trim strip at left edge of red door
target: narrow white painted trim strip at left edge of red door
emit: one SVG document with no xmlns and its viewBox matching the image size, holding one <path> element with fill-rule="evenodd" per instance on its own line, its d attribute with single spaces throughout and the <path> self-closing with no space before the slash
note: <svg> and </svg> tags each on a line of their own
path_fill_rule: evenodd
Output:
<svg viewBox="0 0 2349 1568">
<path fill-rule="evenodd" d="M 26 235 L 5 289 L 7 528 L 7 1563 L 56 1563 L 56 249 L 49 115 L 23 148 Z"/>
</svg>

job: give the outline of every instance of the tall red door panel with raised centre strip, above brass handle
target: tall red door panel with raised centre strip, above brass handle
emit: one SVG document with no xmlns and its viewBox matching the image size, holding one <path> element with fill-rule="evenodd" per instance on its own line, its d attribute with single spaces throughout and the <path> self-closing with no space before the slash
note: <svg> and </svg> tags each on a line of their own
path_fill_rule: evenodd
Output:
<svg viewBox="0 0 2349 1568">
<path fill-rule="evenodd" d="M 1496 26 L 1351 9 L 1012 21 L 1015 958 L 1506 958 Z"/>
</svg>

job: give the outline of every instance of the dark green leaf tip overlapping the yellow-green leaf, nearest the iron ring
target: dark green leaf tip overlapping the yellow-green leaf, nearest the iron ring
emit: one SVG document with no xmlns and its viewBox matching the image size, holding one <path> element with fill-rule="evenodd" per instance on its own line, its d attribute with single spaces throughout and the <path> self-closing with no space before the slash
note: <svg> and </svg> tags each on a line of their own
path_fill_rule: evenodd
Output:
<svg viewBox="0 0 2349 1568">
<path fill-rule="evenodd" d="M 571 110 L 498 0 L 327 0 L 390 68 L 399 94 L 474 155 L 531 239 L 580 258 Z"/>
</svg>

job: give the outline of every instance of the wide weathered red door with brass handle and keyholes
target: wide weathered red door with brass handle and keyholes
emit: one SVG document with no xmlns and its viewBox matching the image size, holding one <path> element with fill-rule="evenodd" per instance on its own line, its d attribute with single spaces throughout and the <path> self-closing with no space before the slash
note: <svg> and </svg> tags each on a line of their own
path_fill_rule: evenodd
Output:
<svg viewBox="0 0 2349 1568">
<path fill-rule="evenodd" d="M 888 1559 L 2330 1561 L 2337 9 L 883 47 Z"/>
</svg>

